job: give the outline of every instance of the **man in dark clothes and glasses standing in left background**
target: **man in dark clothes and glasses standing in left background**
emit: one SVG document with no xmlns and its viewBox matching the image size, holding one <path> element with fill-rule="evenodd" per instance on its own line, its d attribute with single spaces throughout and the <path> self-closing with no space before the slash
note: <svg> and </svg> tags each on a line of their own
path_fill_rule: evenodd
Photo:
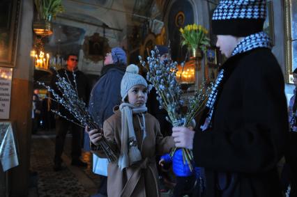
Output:
<svg viewBox="0 0 297 197">
<path fill-rule="evenodd" d="M 68 54 L 67 56 L 67 65 L 66 68 L 61 68 L 58 70 L 58 74 L 61 77 L 65 77 L 67 79 L 66 74 L 68 75 L 69 80 L 73 84 L 73 86 L 77 86 L 77 93 L 78 96 L 84 101 L 87 102 L 89 100 L 90 95 L 90 88 L 88 84 L 88 80 L 83 72 L 79 71 L 77 69 L 77 63 L 78 63 L 78 56 L 77 54 Z M 75 81 L 76 85 L 74 83 L 74 76 L 73 72 L 75 73 Z M 51 86 L 52 89 L 55 91 L 55 93 L 61 94 L 61 91 L 56 86 L 57 77 L 56 74 L 54 74 Z M 75 118 L 68 112 L 67 109 L 65 109 L 61 104 L 54 104 L 53 108 L 57 111 L 61 112 L 63 116 L 66 116 L 70 120 L 75 120 Z M 71 157 L 72 162 L 71 165 L 73 166 L 86 166 L 87 164 L 84 163 L 82 160 L 79 159 L 79 157 L 82 155 L 82 128 L 75 125 L 74 123 L 71 123 L 70 121 L 61 118 L 56 117 L 56 147 L 55 147 L 55 155 L 54 155 L 54 170 L 55 171 L 61 171 L 61 155 L 63 153 L 63 147 L 64 142 L 66 138 L 66 134 L 68 132 L 68 129 L 70 130 L 71 134 L 73 135 L 72 139 L 72 151 L 71 151 Z"/>
</svg>

